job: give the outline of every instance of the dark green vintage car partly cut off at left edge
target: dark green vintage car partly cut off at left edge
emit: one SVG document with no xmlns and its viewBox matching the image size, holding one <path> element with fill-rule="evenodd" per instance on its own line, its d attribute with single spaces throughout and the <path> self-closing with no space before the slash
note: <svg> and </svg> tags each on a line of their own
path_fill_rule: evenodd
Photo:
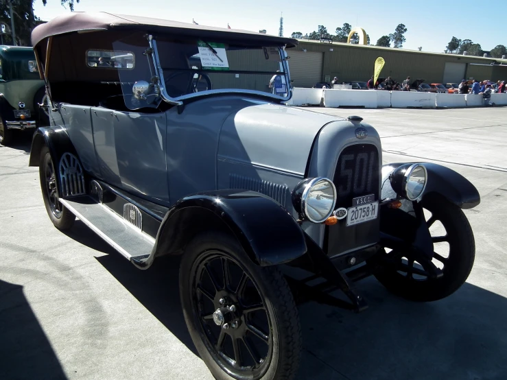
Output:
<svg viewBox="0 0 507 380">
<path fill-rule="evenodd" d="M 47 111 L 39 107 L 44 101 L 34 49 L 0 45 L 0 143 L 12 143 L 14 130 L 47 124 Z"/>
</svg>

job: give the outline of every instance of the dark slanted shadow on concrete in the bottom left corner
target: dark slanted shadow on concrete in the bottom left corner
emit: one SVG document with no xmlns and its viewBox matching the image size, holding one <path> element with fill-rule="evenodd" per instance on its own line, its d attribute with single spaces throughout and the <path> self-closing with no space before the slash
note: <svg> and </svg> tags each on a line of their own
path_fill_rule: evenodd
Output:
<svg viewBox="0 0 507 380">
<path fill-rule="evenodd" d="M 0 358 L 0 379 L 67 379 L 23 287 L 1 280 Z"/>
</svg>

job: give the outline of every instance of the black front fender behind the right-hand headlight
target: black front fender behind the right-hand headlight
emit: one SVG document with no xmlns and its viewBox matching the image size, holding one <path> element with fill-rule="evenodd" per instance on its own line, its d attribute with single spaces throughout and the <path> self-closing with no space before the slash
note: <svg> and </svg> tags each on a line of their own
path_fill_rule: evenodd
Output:
<svg viewBox="0 0 507 380">
<path fill-rule="evenodd" d="M 405 164 L 407 163 L 382 165 L 381 199 L 396 198 L 389 181 L 389 176 L 394 169 Z M 479 191 L 461 174 L 448 167 L 434 163 L 418 164 L 424 166 L 427 171 L 427 185 L 422 199 L 429 194 L 438 193 L 461 209 L 473 209 L 477 204 L 480 204 Z"/>
</svg>

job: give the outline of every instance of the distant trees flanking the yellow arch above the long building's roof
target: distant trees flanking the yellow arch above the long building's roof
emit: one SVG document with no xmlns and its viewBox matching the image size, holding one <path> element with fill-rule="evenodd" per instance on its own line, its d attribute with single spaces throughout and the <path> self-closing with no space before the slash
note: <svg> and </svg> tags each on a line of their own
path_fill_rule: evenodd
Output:
<svg viewBox="0 0 507 380">
<path fill-rule="evenodd" d="M 347 39 L 349 38 L 349 34 L 351 33 L 352 25 L 349 23 L 344 23 L 342 27 L 337 27 L 335 29 L 335 34 L 329 34 L 327 31 L 327 27 L 324 25 L 318 25 L 317 30 L 314 30 L 314 32 L 311 32 L 310 34 L 305 34 L 303 36 L 303 33 L 301 32 L 294 32 L 291 34 L 292 38 L 304 38 L 308 40 L 320 40 L 322 36 L 325 36 L 325 38 L 329 38 L 337 43 L 346 43 Z M 403 24 L 399 24 L 396 29 L 394 29 L 394 33 L 388 34 L 386 36 L 381 36 L 376 46 L 384 46 L 384 47 L 390 47 L 392 43 L 392 47 L 401 48 L 403 47 L 403 43 L 405 43 L 405 33 L 407 32 L 407 27 Z M 371 45 L 370 43 L 370 36 L 366 34 L 367 38 L 367 44 Z M 358 44 L 359 43 L 359 35 L 357 33 L 354 33 L 351 36 L 351 43 Z"/>
</svg>

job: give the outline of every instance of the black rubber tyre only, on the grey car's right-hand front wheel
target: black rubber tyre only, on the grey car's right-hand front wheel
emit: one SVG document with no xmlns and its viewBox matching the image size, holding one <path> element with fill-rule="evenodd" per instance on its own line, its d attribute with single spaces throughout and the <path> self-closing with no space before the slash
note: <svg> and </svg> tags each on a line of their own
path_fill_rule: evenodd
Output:
<svg viewBox="0 0 507 380">
<path fill-rule="evenodd" d="M 444 275 L 434 280 L 408 281 L 394 270 L 383 270 L 375 277 L 393 294 L 407 300 L 430 302 L 450 296 L 467 281 L 475 260 L 475 240 L 467 217 L 456 204 L 442 195 L 430 194 L 421 205 L 436 215 L 447 235 L 451 235 L 449 262 L 443 268 Z"/>
</svg>

